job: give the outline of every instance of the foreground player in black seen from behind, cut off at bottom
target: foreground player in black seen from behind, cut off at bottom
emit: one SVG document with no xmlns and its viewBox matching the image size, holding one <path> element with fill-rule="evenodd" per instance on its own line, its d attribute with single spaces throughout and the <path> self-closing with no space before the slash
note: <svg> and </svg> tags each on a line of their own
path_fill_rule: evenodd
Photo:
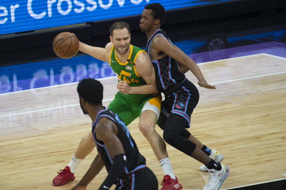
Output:
<svg viewBox="0 0 286 190">
<path fill-rule="evenodd" d="M 119 116 L 102 106 L 103 86 L 92 78 L 79 81 L 80 107 L 92 120 L 92 134 L 98 154 L 90 168 L 72 190 L 86 189 L 105 166 L 108 175 L 99 190 L 158 190 L 155 174 L 146 167 L 146 159 Z"/>
</svg>

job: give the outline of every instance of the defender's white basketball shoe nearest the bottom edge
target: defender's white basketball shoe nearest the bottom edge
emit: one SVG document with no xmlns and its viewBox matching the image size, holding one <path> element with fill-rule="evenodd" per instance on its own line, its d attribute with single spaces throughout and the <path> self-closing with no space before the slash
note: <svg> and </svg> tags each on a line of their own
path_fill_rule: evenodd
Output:
<svg viewBox="0 0 286 190">
<path fill-rule="evenodd" d="M 209 169 L 209 182 L 203 190 L 218 190 L 229 175 L 229 167 L 221 164 L 221 170 Z"/>
</svg>

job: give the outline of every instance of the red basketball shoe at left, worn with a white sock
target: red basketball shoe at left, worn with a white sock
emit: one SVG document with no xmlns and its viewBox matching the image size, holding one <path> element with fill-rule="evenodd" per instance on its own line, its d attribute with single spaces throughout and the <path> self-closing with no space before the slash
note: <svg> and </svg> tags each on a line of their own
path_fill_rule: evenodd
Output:
<svg viewBox="0 0 286 190">
<path fill-rule="evenodd" d="M 60 170 L 57 172 L 59 175 L 57 175 L 53 179 L 53 185 L 54 186 L 61 186 L 64 184 L 67 184 L 69 181 L 73 181 L 75 179 L 74 173 L 71 173 L 71 169 L 69 166 L 66 166 L 65 169 Z"/>
</svg>

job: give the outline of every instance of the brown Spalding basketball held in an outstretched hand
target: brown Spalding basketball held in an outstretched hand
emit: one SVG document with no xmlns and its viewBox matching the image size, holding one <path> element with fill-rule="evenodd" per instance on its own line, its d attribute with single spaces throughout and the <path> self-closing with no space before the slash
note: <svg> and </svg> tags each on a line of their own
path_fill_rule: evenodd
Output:
<svg viewBox="0 0 286 190">
<path fill-rule="evenodd" d="M 68 59 L 77 54 L 80 43 L 77 37 L 70 32 L 58 34 L 53 41 L 53 49 L 57 56 Z"/>
</svg>

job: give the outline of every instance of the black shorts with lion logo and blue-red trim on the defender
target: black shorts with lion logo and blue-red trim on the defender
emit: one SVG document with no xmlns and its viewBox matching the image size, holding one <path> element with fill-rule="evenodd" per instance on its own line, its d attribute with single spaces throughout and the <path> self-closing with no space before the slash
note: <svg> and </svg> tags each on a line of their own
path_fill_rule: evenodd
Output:
<svg viewBox="0 0 286 190">
<path fill-rule="evenodd" d="M 190 118 L 194 108 L 199 101 L 199 91 L 195 85 L 187 81 L 182 87 L 172 94 L 165 94 L 165 100 L 161 104 L 161 114 L 169 116 L 169 113 L 179 114 L 188 121 L 190 127 Z"/>
</svg>

